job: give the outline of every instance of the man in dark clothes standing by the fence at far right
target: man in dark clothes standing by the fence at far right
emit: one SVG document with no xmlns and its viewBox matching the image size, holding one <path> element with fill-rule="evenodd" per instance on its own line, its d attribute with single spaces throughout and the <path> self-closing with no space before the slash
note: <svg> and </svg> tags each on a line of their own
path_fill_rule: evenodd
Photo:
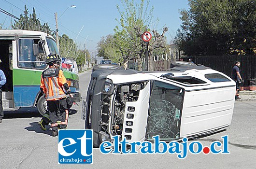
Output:
<svg viewBox="0 0 256 169">
<path fill-rule="evenodd" d="M 232 69 L 232 79 L 237 84 L 235 99 L 241 99 L 239 97 L 240 84 L 242 82 L 242 77 L 241 77 L 240 69 L 239 69 L 240 65 L 241 65 L 240 61 L 236 61 L 235 66 Z"/>
</svg>

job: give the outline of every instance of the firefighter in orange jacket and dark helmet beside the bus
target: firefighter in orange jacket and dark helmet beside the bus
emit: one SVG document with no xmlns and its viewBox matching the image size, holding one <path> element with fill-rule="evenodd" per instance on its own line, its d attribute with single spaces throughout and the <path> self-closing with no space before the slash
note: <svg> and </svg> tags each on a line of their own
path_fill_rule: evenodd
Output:
<svg viewBox="0 0 256 169">
<path fill-rule="evenodd" d="M 47 119 L 49 119 L 53 130 L 52 136 L 56 137 L 58 135 L 58 126 L 60 129 L 64 129 L 68 125 L 69 113 L 65 91 L 70 97 L 73 96 L 62 70 L 59 69 L 61 61 L 58 56 L 48 55 L 45 63 L 49 65 L 49 68 L 42 73 L 40 89 L 47 101 L 49 118 L 47 118 L 48 113 L 45 113 L 43 117 L 45 122 L 42 119 L 42 122 L 40 121 L 39 123 L 41 128 L 45 130 L 45 125 L 48 124 Z"/>
</svg>

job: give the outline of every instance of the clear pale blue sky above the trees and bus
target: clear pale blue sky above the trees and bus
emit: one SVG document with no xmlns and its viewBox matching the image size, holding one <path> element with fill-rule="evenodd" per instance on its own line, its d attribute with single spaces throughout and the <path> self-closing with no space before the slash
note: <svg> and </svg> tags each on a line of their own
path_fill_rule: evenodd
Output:
<svg viewBox="0 0 256 169">
<path fill-rule="evenodd" d="M 140 3 L 140 0 L 134 2 Z M 68 35 L 79 48 L 86 47 L 92 56 L 97 54 L 100 38 L 114 34 L 115 26 L 120 26 L 115 18 L 120 19 L 116 5 L 122 6 L 121 0 L 0 0 L 0 8 L 17 17 L 23 13 L 25 4 L 29 14 L 34 7 L 41 24 L 48 22 L 52 30 L 56 28 L 54 13 L 57 13 L 59 36 Z M 188 9 L 187 0 L 150 0 L 149 9 L 152 6 L 154 18 L 159 19 L 157 25 L 153 24 L 154 29 L 161 33 L 164 26 L 168 27 L 165 35 L 171 42 L 181 25 L 179 9 Z M 10 29 L 12 23 L 14 18 L 0 13 L 2 28 Z"/>
</svg>

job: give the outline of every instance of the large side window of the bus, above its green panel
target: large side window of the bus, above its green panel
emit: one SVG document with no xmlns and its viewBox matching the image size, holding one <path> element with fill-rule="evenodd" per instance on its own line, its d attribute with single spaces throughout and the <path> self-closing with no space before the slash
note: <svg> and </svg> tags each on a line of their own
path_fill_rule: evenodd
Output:
<svg viewBox="0 0 256 169">
<path fill-rule="evenodd" d="M 18 40 L 18 67 L 29 69 L 45 69 L 45 52 L 40 39 Z M 39 43 L 38 43 L 39 42 Z M 34 55 L 33 44 L 38 44 L 38 55 Z"/>
</svg>

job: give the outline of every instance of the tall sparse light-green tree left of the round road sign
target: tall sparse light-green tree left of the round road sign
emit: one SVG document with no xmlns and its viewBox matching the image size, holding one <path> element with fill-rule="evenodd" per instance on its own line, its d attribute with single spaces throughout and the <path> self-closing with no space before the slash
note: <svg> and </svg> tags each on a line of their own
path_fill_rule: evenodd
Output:
<svg viewBox="0 0 256 169">
<path fill-rule="evenodd" d="M 138 60 L 138 70 L 142 70 L 142 57 L 145 52 L 145 43 L 141 39 L 141 35 L 148 30 L 153 21 L 154 7 L 147 11 L 149 0 L 144 5 L 144 0 L 140 4 L 135 4 L 134 0 L 121 0 L 124 11 L 121 11 L 119 5 L 117 10 L 120 19 L 116 21 L 120 24 L 120 28 L 114 28 L 117 48 L 124 57 L 124 61 L 135 58 Z M 145 9 L 144 9 L 145 6 Z"/>
</svg>

